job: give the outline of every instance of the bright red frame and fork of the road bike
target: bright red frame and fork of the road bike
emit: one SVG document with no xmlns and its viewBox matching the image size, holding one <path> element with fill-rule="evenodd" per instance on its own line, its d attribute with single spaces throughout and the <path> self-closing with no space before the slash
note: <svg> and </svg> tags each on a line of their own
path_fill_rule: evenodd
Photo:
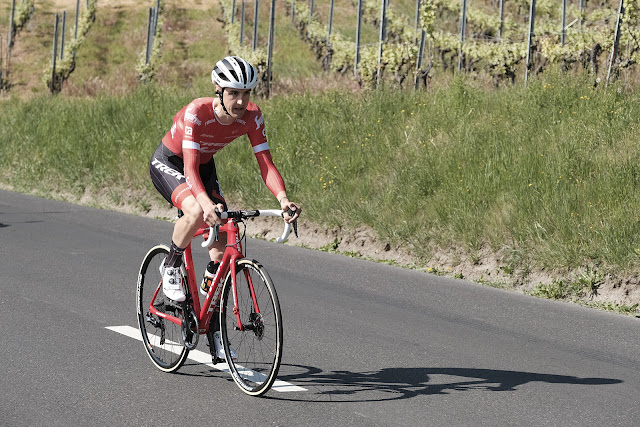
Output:
<svg viewBox="0 0 640 427">
<path fill-rule="evenodd" d="M 194 235 L 195 237 L 201 236 L 209 231 L 209 228 L 200 228 Z M 227 244 L 225 247 L 224 254 L 222 256 L 222 261 L 220 262 L 220 266 L 218 267 L 218 271 L 216 272 L 216 276 L 214 282 L 211 284 L 211 288 L 209 289 L 209 293 L 204 299 L 204 303 L 202 306 L 200 305 L 200 295 L 198 292 L 198 281 L 196 280 L 195 267 L 193 264 L 193 258 L 191 253 L 191 243 L 184 250 L 184 258 L 185 258 L 185 268 L 187 271 L 187 285 L 189 286 L 189 293 L 191 294 L 191 298 L 193 299 L 193 310 L 195 312 L 196 318 L 199 323 L 199 334 L 206 334 L 209 330 L 209 325 L 211 322 L 212 314 L 215 312 L 217 303 L 219 301 L 220 293 L 223 288 L 223 280 L 226 278 L 229 271 L 231 272 L 231 283 L 233 289 L 233 303 L 234 303 L 234 313 L 237 317 L 237 327 L 242 330 L 244 326 L 242 325 L 240 319 L 240 313 L 237 310 L 238 307 L 238 294 L 236 290 L 236 263 L 237 261 L 244 258 L 242 242 L 240 241 L 239 236 L 239 227 L 235 220 L 229 218 L 223 226 L 220 227 L 220 231 L 226 233 L 227 235 Z M 253 300 L 255 313 L 260 313 L 260 309 L 258 307 L 258 302 L 254 293 L 253 284 L 251 283 L 251 277 L 247 274 L 247 282 L 249 283 L 249 288 L 251 292 L 251 297 Z M 176 316 L 171 314 L 163 313 L 158 311 L 153 303 L 158 296 L 162 288 L 162 284 L 159 284 L 158 289 L 153 295 L 151 302 L 149 303 L 149 311 L 156 316 L 162 317 L 170 322 L 173 322 L 179 326 L 182 326 L 182 320 Z"/>
</svg>

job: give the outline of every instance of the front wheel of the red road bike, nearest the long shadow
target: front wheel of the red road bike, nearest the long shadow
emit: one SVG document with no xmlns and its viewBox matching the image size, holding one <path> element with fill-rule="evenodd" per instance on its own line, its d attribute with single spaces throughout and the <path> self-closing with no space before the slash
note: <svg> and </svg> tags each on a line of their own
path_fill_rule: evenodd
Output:
<svg viewBox="0 0 640 427">
<path fill-rule="evenodd" d="M 249 280 L 250 279 L 250 280 Z M 240 389 L 251 396 L 261 396 L 273 385 L 282 361 L 282 314 L 273 282 L 267 271 L 255 260 L 242 259 L 236 263 L 238 311 L 244 330 L 238 330 L 234 313 L 231 272 L 222 290 L 220 330 L 225 355 L 232 347 L 237 359 L 227 357 L 231 376 Z M 257 315 L 249 283 L 260 309 Z M 249 326 L 249 329 L 246 327 Z"/>
</svg>

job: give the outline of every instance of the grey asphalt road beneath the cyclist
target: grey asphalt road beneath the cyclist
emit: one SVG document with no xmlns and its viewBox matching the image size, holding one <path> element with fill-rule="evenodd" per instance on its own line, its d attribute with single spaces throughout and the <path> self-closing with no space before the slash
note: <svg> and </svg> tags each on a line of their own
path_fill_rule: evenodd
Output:
<svg viewBox="0 0 640 427">
<path fill-rule="evenodd" d="M 107 328 L 136 327 L 139 264 L 171 230 L 0 191 L 0 425 L 638 424 L 638 319 L 252 239 L 299 388 L 163 373 Z"/>
</svg>

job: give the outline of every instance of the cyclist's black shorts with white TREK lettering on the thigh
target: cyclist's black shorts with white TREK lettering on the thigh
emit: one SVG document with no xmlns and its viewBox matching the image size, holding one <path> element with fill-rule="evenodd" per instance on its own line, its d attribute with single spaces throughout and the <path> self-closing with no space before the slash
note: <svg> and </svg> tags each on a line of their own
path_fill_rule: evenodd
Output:
<svg viewBox="0 0 640 427">
<path fill-rule="evenodd" d="M 184 161 L 160 143 L 151 156 L 149 170 L 151 181 L 162 197 L 178 209 L 182 209 L 182 201 L 192 195 L 184 176 Z M 227 210 L 213 157 L 209 162 L 200 165 L 199 174 L 209 198 L 214 203 L 222 203 Z"/>
</svg>

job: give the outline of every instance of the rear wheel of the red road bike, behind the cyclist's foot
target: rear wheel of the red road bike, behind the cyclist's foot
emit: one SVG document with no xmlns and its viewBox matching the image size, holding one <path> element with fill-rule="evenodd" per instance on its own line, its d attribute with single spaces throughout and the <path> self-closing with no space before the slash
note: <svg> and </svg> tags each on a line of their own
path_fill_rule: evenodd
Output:
<svg viewBox="0 0 640 427">
<path fill-rule="evenodd" d="M 169 248 L 158 245 L 145 255 L 138 274 L 136 306 L 138 327 L 142 342 L 153 364 L 164 372 L 175 372 L 184 364 L 189 350 L 182 343 L 182 328 L 149 312 L 149 304 L 156 290 L 162 286 L 160 267 L 169 254 Z M 182 317 L 181 310 L 158 291 L 154 306 L 161 312 Z"/>
</svg>

